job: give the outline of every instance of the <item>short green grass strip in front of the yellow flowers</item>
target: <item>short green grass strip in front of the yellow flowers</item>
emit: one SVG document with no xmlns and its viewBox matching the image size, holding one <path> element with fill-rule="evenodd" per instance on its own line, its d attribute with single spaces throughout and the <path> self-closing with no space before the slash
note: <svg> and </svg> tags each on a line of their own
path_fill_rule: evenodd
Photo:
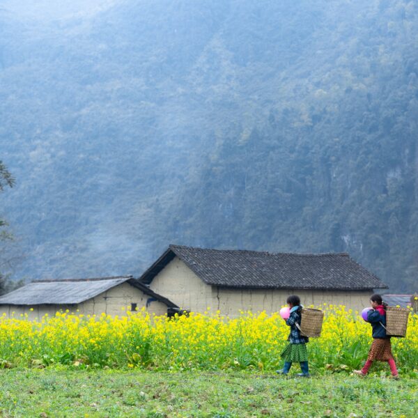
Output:
<svg viewBox="0 0 418 418">
<path fill-rule="evenodd" d="M 295 373 L 295 371 L 293 371 Z M 416 417 L 417 379 L 1 370 L 2 417 Z"/>
</svg>

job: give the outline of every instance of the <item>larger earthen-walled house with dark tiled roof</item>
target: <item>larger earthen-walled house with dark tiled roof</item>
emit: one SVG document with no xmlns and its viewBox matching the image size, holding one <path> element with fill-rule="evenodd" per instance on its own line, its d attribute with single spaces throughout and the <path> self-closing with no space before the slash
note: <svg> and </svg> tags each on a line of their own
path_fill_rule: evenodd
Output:
<svg viewBox="0 0 418 418">
<path fill-rule="evenodd" d="M 201 249 L 170 245 L 139 278 L 180 309 L 224 315 L 240 310 L 278 311 L 288 295 L 309 306 L 369 306 L 378 277 L 348 254 L 272 254 L 261 251 Z"/>
</svg>

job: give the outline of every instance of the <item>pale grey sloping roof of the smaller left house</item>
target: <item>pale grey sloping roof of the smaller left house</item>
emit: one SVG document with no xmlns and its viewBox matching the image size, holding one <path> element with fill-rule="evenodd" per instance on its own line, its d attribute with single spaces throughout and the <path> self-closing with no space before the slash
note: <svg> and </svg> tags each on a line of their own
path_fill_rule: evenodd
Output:
<svg viewBox="0 0 418 418">
<path fill-rule="evenodd" d="M 26 286 L 1 296 L 0 304 L 77 304 L 130 279 L 132 276 L 32 281 Z"/>
</svg>

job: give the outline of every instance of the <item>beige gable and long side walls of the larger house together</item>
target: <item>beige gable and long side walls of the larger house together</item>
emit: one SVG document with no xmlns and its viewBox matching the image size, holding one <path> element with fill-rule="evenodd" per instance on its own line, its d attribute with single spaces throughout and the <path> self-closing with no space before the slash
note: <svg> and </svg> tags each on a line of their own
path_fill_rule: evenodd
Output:
<svg viewBox="0 0 418 418">
<path fill-rule="evenodd" d="M 269 314 L 279 311 L 286 304 L 288 295 L 299 295 L 302 304 L 318 306 L 343 304 L 347 309 L 361 311 L 369 306 L 371 291 L 298 291 L 237 289 L 209 286 L 199 279 L 178 257 L 167 265 L 151 281 L 150 288 L 160 295 L 178 304 L 182 309 L 204 312 L 207 307 L 212 311 L 219 309 L 222 314 L 238 316 L 240 310 L 267 311 Z"/>
</svg>

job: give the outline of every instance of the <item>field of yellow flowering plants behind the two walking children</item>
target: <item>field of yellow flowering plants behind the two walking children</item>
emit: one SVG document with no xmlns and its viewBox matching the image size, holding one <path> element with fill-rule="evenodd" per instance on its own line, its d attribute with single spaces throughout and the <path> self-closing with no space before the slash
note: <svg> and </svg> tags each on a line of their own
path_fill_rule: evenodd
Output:
<svg viewBox="0 0 418 418">
<path fill-rule="evenodd" d="M 308 344 L 313 369 L 343 371 L 366 359 L 371 325 L 344 307 L 323 307 L 320 338 Z M 146 311 L 127 316 L 82 316 L 57 312 L 39 321 L 0 318 L 0 366 L 75 368 L 256 369 L 281 364 L 289 328 L 279 314 L 242 313 L 150 317 Z M 408 334 L 392 339 L 401 373 L 418 368 L 418 315 L 411 314 Z"/>
</svg>

